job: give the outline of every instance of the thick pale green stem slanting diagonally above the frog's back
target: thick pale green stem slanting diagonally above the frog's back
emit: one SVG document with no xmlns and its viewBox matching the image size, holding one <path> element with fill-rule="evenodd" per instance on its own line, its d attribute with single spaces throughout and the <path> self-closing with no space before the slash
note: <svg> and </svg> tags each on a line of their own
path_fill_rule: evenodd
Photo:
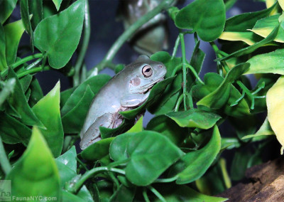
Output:
<svg viewBox="0 0 284 202">
<path fill-rule="evenodd" d="M 168 9 L 170 5 L 173 3 L 174 0 L 163 0 L 155 9 L 149 11 L 147 14 L 142 16 L 138 19 L 135 23 L 133 23 L 126 31 L 124 31 L 121 36 L 114 42 L 114 44 L 109 49 L 109 52 L 104 56 L 104 59 L 92 70 L 90 70 L 89 75 L 92 75 L 92 72 L 97 68 L 98 71 L 103 70 L 107 63 L 111 62 L 114 59 L 114 56 L 119 51 L 121 46 L 129 39 L 133 34 L 143 26 L 143 24 L 147 23 L 151 18 L 155 17 L 157 14 L 159 14 L 161 11 Z"/>
</svg>

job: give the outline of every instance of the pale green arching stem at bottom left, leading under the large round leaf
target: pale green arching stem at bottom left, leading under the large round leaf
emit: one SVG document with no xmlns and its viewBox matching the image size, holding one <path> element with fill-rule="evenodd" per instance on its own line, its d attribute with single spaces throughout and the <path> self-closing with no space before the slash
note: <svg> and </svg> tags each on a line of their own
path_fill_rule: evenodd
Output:
<svg viewBox="0 0 284 202">
<path fill-rule="evenodd" d="M 67 186 L 65 187 L 65 189 L 67 191 L 69 191 L 69 192 L 76 193 L 84 185 L 84 181 L 86 181 L 90 177 L 94 176 L 95 174 L 99 174 L 99 173 L 104 172 L 104 171 L 111 171 L 111 172 L 115 172 L 115 173 L 118 173 L 118 174 L 125 175 L 125 171 L 121 170 L 121 169 L 108 168 L 107 166 L 97 167 L 97 168 L 94 168 L 94 169 L 91 169 L 91 170 L 85 172 L 80 177 L 79 180 L 77 180 L 77 181 L 70 181 L 67 184 Z"/>
</svg>

